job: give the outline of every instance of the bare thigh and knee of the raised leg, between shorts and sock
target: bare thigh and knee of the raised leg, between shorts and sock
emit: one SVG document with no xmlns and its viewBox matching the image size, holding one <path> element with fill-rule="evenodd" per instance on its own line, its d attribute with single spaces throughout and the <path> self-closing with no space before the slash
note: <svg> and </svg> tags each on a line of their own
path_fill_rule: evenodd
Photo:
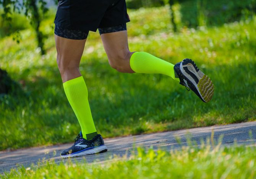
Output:
<svg viewBox="0 0 256 179">
<path fill-rule="evenodd" d="M 127 30 L 100 35 L 109 64 L 119 72 L 133 73 L 130 67 L 130 52 L 128 46 Z"/>
</svg>

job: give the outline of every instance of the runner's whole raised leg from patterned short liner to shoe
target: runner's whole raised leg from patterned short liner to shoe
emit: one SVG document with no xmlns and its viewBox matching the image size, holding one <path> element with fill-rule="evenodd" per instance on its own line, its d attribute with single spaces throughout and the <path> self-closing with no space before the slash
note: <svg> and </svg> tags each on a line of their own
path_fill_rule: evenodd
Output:
<svg viewBox="0 0 256 179">
<path fill-rule="evenodd" d="M 173 65 L 146 52 L 130 52 L 125 24 L 101 28 L 99 32 L 109 64 L 119 72 L 168 75 L 186 89 L 192 89 L 203 102 L 212 99 L 214 85 L 211 79 L 191 59 Z"/>
</svg>

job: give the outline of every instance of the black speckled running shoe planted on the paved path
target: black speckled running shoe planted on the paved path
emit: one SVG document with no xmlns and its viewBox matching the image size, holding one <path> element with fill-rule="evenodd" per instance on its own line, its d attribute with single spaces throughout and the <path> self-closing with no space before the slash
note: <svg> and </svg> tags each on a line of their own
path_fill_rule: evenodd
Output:
<svg viewBox="0 0 256 179">
<path fill-rule="evenodd" d="M 93 139 L 88 141 L 83 138 L 82 132 L 80 132 L 75 138 L 75 144 L 60 153 L 60 156 L 62 158 L 69 158 L 94 153 L 102 153 L 106 151 L 107 147 L 104 145 L 103 138 L 100 134 L 97 134 L 95 137 L 93 137 Z"/>
</svg>

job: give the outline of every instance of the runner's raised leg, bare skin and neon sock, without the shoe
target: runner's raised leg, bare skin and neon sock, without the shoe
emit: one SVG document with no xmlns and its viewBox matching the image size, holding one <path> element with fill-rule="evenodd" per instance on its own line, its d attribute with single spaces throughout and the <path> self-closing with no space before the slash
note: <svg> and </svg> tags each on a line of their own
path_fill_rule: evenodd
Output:
<svg viewBox="0 0 256 179">
<path fill-rule="evenodd" d="M 119 72 L 165 74 L 175 78 L 174 65 L 146 52 L 130 52 L 127 30 L 100 35 L 109 64 Z"/>
</svg>

